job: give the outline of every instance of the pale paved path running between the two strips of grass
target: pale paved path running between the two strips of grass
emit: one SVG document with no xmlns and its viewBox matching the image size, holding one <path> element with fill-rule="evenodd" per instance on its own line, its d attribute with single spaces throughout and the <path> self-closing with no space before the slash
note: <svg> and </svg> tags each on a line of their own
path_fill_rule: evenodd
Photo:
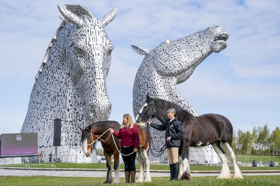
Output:
<svg viewBox="0 0 280 186">
<path fill-rule="evenodd" d="M 55 171 L 52 176 L 58 177 L 106 177 L 106 171 Z M 218 176 L 219 173 L 191 173 L 192 177 L 197 176 Z M 231 174 L 233 175 L 233 174 Z M 242 173 L 242 175 L 280 175 L 280 173 Z M 169 177 L 170 173 L 151 172 L 151 177 Z M 114 171 L 113 171 L 114 177 Z M 124 172 L 120 172 L 120 177 L 125 177 Z M 136 172 L 136 177 L 139 177 L 139 172 Z"/>
</svg>

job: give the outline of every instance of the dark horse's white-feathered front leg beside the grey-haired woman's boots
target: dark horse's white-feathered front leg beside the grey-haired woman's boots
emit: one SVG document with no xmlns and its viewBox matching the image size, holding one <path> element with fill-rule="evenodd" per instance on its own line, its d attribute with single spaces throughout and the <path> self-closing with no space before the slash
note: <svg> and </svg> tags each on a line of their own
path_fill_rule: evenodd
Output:
<svg viewBox="0 0 280 186">
<path fill-rule="evenodd" d="M 191 171 L 189 165 L 189 138 L 186 135 L 183 140 L 181 140 L 181 147 L 182 147 L 182 164 L 183 164 L 183 173 L 179 180 L 191 180 Z"/>
</svg>

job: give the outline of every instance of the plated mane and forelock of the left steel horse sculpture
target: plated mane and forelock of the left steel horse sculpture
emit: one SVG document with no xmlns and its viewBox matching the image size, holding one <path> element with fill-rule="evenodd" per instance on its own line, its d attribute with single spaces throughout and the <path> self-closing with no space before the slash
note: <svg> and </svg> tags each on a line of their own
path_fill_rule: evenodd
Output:
<svg viewBox="0 0 280 186">
<path fill-rule="evenodd" d="M 88 15 L 89 17 L 91 17 L 91 18 L 94 18 L 93 13 L 92 13 L 89 9 L 87 9 L 86 7 L 83 7 L 83 6 L 81 6 L 81 5 L 65 5 L 65 6 L 66 6 L 66 8 L 67 8 L 69 11 L 71 11 L 71 12 L 74 13 L 74 14 L 76 14 L 77 16 L 80 16 L 80 15 L 82 15 L 82 14 L 85 14 L 85 15 Z M 68 22 L 61 14 L 59 15 L 59 17 L 61 18 L 62 23 L 61 23 L 60 26 L 57 28 L 55 34 L 54 34 L 53 37 L 51 38 L 51 42 L 50 42 L 50 44 L 49 44 L 49 46 L 48 46 L 48 48 L 47 48 L 47 51 L 46 51 L 46 54 L 45 54 L 45 56 L 44 56 L 43 62 L 42 62 L 41 66 L 40 66 L 40 68 L 39 68 L 39 71 L 38 71 L 38 73 L 37 73 L 37 75 L 36 75 L 36 77 L 35 77 L 35 82 L 37 81 L 39 75 L 42 73 L 45 64 L 47 63 L 47 59 L 48 59 L 48 57 L 49 57 L 49 52 L 50 52 L 50 50 L 51 50 L 51 46 L 53 45 L 53 42 L 56 40 L 57 34 L 58 34 L 59 31 L 64 27 L 65 23 Z M 36 83 L 35 83 L 35 84 L 36 84 Z M 33 86 L 33 89 L 34 89 L 34 87 L 35 87 L 35 84 L 34 84 L 34 86 Z M 33 89 L 32 89 L 32 91 L 33 91 Z M 31 92 L 32 92 L 32 91 L 31 91 Z"/>
</svg>

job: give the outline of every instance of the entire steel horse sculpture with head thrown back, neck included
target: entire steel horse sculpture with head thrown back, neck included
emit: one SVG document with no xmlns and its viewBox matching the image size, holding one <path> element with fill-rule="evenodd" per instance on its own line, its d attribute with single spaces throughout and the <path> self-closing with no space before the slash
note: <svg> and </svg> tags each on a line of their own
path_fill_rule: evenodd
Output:
<svg viewBox="0 0 280 186">
<path fill-rule="evenodd" d="M 207 29 L 189 36 L 171 41 L 165 40 L 153 50 L 132 45 L 137 54 L 145 55 L 139 67 L 133 86 L 134 116 L 146 101 L 146 94 L 151 97 L 165 99 L 198 116 L 191 105 L 177 92 L 176 84 L 186 81 L 195 68 L 212 52 L 220 52 L 227 47 L 228 33 L 219 26 L 209 26 Z M 152 122 L 161 124 L 156 118 Z M 144 123 L 142 124 L 144 125 Z M 158 148 L 164 144 L 164 132 L 153 130 L 152 141 Z M 217 156 L 212 146 L 190 148 L 190 156 Z M 187 171 L 180 162 L 180 173 Z M 213 162 L 213 160 L 212 160 Z M 145 162 L 146 165 L 149 162 Z"/>
</svg>

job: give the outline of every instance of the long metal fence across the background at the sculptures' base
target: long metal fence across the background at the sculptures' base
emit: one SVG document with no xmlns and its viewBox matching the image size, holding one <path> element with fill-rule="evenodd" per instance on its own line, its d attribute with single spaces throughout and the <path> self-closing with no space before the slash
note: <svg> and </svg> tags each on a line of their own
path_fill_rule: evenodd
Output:
<svg viewBox="0 0 280 186">
<path fill-rule="evenodd" d="M 0 165 L 11 164 L 27 164 L 27 163 L 47 163 L 47 162 L 64 162 L 64 163 L 100 163 L 102 156 L 92 155 L 86 157 L 84 155 L 54 155 L 53 157 L 43 156 L 40 160 L 39 157 L 17 157 L 17 158 L 0 158 Z M 168 164 L 167 156 L 149 156 L 151 164 Z M 252 166 L 253 160 L 257 162 L 257 166 L 278 166 L 280 164 L 280 156 L 235 156 L 237 164 L 242 166 Z M 227 158 L 229 165 L 232 163 L 231 159 Z M 120 156 L 120 163 L 123 164 L 123 160 Z M 138 161 L 135 160 L 138 164 Z M 219 156 L 189 156 L 189 163 L 191 165 L 197 164 L 220 164 L 221 160 Z"/>
</svg>

